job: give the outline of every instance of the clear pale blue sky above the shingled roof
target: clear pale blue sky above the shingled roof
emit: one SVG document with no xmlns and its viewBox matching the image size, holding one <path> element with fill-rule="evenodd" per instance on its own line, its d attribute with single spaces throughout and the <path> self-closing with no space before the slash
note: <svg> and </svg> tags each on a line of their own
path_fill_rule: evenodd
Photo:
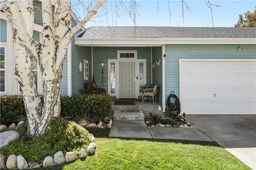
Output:
<svg viewBox="0 0 256 170">
<path fill-rule="evenodd" d="M 86 1 L 84 1 L 86 2 Z M 234 27 L 239 14 L 253 12 L 255 0 L 210 0 L 213 11 L 207 7 L 204 0 L 184 0 L 190 10 L 184 7 L 182 17 L 181 0 L 138 0 L 136 26 L 170 26 L 170 27 Z M 106 2 L 96 16 L 85 27 L 90 26 L 134 26 L 128 13 L 118 6 L 118 12 L 106 10 L 113 8 L 114 1 Z M 169 12 L 170 8 L 170 12 Z M 129 9 L 128 9 L 129 10 Z M 106 15 L 106 11 L 108 11 Z M 171 16 L 170 16 L 171 14 Z M 83 15 L 82 12 L 80 15 Z M 112 17 L 113 16 L 113 17 Z M 212 21 L 213 18 L 213 21 Z"/>
</svg>

